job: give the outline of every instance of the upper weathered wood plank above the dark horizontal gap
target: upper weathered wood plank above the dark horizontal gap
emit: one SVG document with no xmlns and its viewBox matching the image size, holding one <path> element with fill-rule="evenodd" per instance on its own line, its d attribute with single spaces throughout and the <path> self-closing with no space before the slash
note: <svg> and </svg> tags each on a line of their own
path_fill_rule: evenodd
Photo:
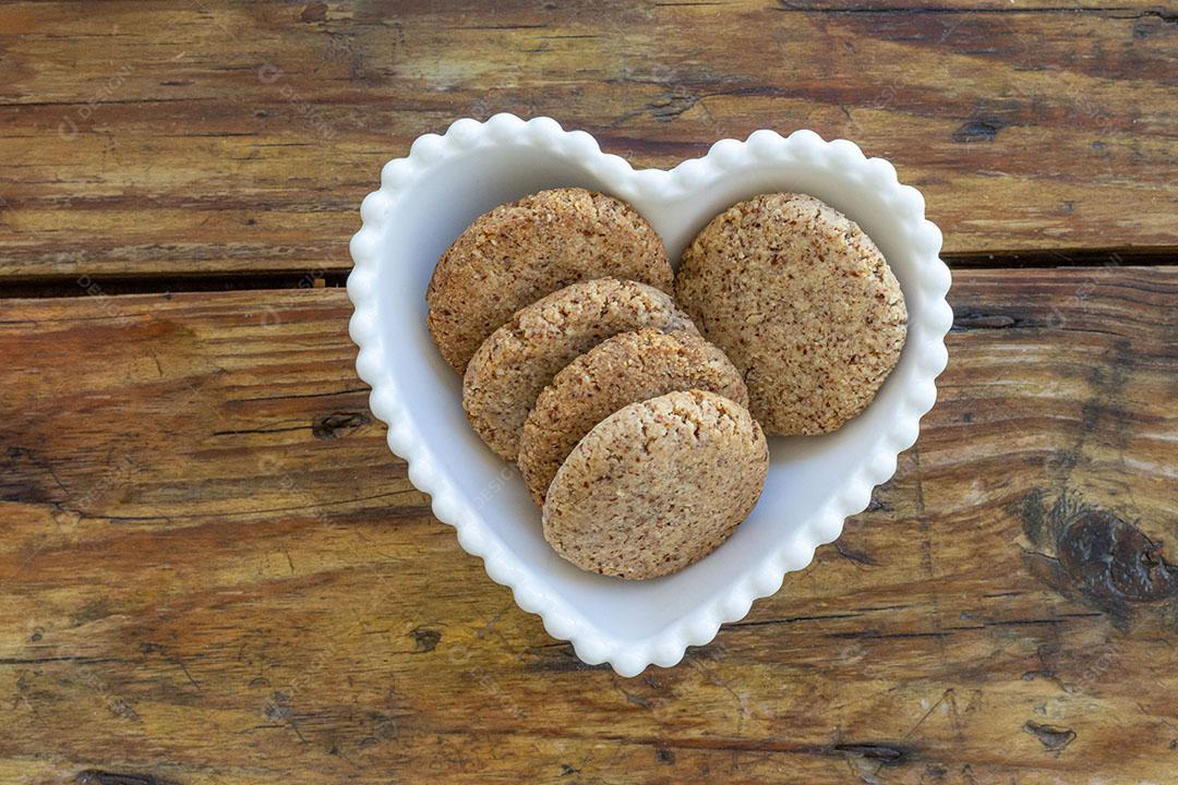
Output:
<svg viewBox="0 0 1178 785">
<path fill-rule="evenodd" d="M 380 165 L 496 111 L 640 166 L 847 137 L 954 254 L 1178 247 L 1178 24 L 1152 0 L 16 2 L 0 76 L 9 281 L 346 268 Z"/>
</svg>

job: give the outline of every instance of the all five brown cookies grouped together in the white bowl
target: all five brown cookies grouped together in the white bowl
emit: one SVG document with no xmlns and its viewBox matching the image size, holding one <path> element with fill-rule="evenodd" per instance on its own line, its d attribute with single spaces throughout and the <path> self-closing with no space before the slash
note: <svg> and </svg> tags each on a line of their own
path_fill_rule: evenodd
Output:
<svg viewBox="0 0 1178 785">
<path fill-rule="evenodd" d="M 765 487 L 765 433 L 859 414 L 907 324 L 871 239 L 792 193 L 717 215 L 676 275 L 629 205 L 542 191 L 463 232 L 426 304 L 471 425 L 518 465 L 544 538 L 628 579 L 719 547 Z"/>
</svg>

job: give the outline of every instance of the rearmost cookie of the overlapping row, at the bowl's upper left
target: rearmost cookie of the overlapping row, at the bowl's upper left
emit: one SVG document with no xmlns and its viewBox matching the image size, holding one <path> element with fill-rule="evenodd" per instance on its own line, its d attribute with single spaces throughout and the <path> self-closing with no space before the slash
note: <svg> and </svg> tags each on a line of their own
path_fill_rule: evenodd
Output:
<svg viewBox="0 0 1178 785">
<path fill-rule="evenodd" d="M 481 215 L 438 260 L 426 324 L 458 373 L 516 311 L 576 281 L 624 278 L 671 291 L 662 239 L 623 201 L 541 191 Z"/>
</svg>

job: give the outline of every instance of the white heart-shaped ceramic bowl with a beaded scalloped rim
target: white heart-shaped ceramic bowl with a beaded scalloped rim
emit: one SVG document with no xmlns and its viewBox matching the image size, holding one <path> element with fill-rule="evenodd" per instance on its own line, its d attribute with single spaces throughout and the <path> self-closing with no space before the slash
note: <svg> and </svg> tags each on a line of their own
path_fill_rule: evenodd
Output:
<svg viewBox="0 0 1178 785">
<path fill-rule="evenodd" d="M 855 220 L 884 252 L 904 290 L 908 335 L 900 362 L 874 403 L 840 431 L 773 438 L 756 508 L 719 550 L 686 570 L 646 581 L 582 572 L 544 541 L 540 512 L 514 466 L 488 450 L 466 423 L 462 379 L 442 360 L 425 326 L 425 287 L 458 234 L 497 205 L 543 188 L 583 186 L 631 204 L 677 260 L 717 213 L 757 193 L 808 193 Z M 497 114 L 458 120 L 443 135 L 418 138 L 408 158 L 385 165 L 380 188 L 360 205 L 348 294 L 356 370 L 372 386 L 372 413 L 389 425 L 389 446 L 409 479 L 432 497 L 434 514 L 457 530 L 487 574 L 510 586 L 524 611 L 589 664 L 622 676 L 670 666 L 687 646 L 715 638 L 748 613 L 787 572 L 861 512 L 872 488 L 895 471 L 937 398 L 953 312 L 941 233 L 925 201 L 900 185 L 884 159 L 810 131 L 757 131 L 724 139 L 703 158 L 670 171 L 635 171 L 601 152 L 583 131 L 550 118 Z"/>
</svg>

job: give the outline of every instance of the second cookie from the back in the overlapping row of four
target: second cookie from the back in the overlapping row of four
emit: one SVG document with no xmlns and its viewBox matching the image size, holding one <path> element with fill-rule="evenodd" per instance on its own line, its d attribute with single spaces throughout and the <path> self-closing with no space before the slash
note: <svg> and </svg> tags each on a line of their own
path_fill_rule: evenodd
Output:
<svg viewBox="0 0 1178 785">
<path fill-rule="evenodd" d="M 641 327 L 696 333 L 674 300 L 637 281 L 581 281 L 532 302 L 483 341 L 466 366 L 462 406 L 475 431 L 507 460 L 536 397 L 552 377 L 601 341 Z"/>
</svg>

